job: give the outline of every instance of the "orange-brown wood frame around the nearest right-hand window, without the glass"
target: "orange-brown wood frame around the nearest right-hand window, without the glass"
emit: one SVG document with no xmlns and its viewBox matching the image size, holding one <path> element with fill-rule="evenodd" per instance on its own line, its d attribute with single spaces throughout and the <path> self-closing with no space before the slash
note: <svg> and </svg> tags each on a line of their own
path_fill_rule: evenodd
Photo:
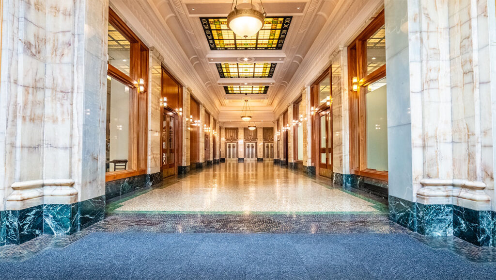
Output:
<svg viewBox="0 0 496 280">
<path fill-rule="evenodd" d="M 350 173 L 354 175 L 388 181 L 387 171 L 377 171 L 367 168 L 367 133 L 365 119 L 366 87 L 371 83 L 386 77 L 386 65 L 368 74 L 367 70 L 367 39 L 384 25 L 384 10 L 357 36 L 348 46 L 348 88 L 350 110 Z M 353 91 L 353 77 L 359 84 L 357 92 Z"/>
</svg>

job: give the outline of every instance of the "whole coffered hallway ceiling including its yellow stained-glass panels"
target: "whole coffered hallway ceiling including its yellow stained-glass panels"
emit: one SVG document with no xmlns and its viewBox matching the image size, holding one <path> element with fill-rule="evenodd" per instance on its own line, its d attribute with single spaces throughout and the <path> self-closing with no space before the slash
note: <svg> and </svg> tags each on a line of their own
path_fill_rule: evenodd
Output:
<svg viewBox="0 0 496 280">
<path fill-rule="evenodd" d="M 245 39 L 226 26 L 231 0 L 147 1 L 173 32 L 210 97 L 216 99 L 219 118 L 232 117 L 249 99 L 257 112 L 255 121 L 274 119 L 274 97 L 284 94 L 338 2 L 265 0 L 262 29 Z M 253 4 L 260 9 L 259 0 Z"/>
</svg>

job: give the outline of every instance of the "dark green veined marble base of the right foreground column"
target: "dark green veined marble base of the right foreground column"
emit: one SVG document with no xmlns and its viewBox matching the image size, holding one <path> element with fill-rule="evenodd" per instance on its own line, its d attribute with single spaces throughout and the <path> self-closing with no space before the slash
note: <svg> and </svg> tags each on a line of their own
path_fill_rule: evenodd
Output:
<svg viewBox="0 0 496 280">
<path fill-rule="evenodd" d="M 451 204 L 425 205 L 389 196 L 389 218 L 422 235 L 456 236 L 477 246 L 496 247 L 496 213 Z"/>
</svg>

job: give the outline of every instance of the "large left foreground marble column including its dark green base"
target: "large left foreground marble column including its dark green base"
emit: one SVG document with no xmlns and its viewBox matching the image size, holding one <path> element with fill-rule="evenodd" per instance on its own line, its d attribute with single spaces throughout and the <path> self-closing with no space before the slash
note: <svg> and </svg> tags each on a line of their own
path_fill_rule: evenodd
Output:
<svg viewBox="0 0 496 280">
<path fill-rule="evenodd" d="M 2 12 L 0 245 L 103 218 L 108 2 Z"/>
</svg>

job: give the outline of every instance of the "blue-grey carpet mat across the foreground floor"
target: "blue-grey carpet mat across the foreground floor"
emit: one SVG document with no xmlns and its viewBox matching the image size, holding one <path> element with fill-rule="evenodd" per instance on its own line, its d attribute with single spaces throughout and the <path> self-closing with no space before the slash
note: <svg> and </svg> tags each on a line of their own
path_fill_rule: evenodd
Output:
<svg viewBox="0 0 496 280">
<path fill-rule="evenodd" d="M 495 279 L 474 263 L 407 234 L 92 232 L 23 261 L 1 279 Z"/>
</svg>

